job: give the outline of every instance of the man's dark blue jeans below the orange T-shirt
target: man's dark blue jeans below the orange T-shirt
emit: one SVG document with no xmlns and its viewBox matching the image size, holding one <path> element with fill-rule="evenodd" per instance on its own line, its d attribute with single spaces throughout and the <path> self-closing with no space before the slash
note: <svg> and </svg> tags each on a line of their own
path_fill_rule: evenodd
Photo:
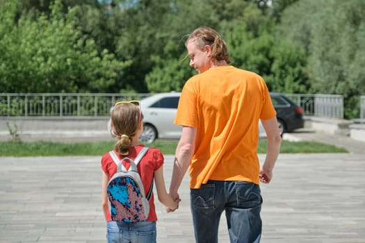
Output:
<svg viewBox="0 0 365 243">
<path fill-rule="evenodd" d="M 190 189 L 195 242 L 218 242 L 223 210 L 230 242 L 260 242 L 261 204 L 259 185 L 245 181 L 208 181 L 199 189 Z"/>
</svg>

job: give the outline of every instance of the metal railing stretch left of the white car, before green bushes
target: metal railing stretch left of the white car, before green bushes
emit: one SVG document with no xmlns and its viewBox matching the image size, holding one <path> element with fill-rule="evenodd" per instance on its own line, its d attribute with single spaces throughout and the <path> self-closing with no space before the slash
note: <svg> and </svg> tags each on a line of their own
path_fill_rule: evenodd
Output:
<svg viewBox="0 0 365 243">
<path fill-rule="evenodd" d="M 104 116 L 117 100 L 142 99 L 150 94 L 33 93 L 0 94 L 0 116 Z"/>
</svg>

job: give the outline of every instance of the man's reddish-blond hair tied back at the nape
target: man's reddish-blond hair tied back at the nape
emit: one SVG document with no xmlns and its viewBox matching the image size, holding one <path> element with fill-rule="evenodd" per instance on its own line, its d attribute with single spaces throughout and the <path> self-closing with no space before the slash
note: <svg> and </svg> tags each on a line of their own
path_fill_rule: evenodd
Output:
<svg viewBox="0 0 365 243">
<path fill-rule="evenodd" d="M 185 46 L 191 40 L 194 40 L 195 44 L 197 47 L 200 47 L 200 49 L 203 49 L 206 44 L 209 45 L 211 47 L 212 60 L 225 60 L 227 63 L 231 62 L 225 40 L 223 40 L 220 34 L 213 30 L 213 28 L 204 26 L 196 28 L 193 33 L 188 35 L 188 40 L 186 40 Z"/>
</svg>

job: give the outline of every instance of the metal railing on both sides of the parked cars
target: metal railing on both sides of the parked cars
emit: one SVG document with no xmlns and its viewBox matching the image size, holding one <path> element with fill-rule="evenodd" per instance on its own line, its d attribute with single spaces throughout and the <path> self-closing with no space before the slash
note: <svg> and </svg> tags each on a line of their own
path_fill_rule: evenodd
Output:
<svg viewBox="0 0 365 243">
<path fill-rule="evenodd" d="M 151 94 L 33 93 L 0 94 L 0 116 L 105 116 L 117 100 L 142 99 Z M 286 94 L 308 116 L 343 118 L 343 97 L 334 94 Z M 362 117 L 365 116 L 364 96 Z"/>
</svg>

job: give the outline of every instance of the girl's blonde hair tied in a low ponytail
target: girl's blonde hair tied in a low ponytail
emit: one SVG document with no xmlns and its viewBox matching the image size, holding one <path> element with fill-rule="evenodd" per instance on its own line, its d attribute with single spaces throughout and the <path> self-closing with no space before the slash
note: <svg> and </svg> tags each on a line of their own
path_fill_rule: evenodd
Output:
<svg viewBox="0 0 365 243">
<path fill-rule="evenodd" d="M 120 103 L 111 111 L 111 132 L 118 138 L 114 149 L 122 156 L 129 154 L 132 137 L 136 136 L 143 115 L 133 103 Z"/>
</svg>

